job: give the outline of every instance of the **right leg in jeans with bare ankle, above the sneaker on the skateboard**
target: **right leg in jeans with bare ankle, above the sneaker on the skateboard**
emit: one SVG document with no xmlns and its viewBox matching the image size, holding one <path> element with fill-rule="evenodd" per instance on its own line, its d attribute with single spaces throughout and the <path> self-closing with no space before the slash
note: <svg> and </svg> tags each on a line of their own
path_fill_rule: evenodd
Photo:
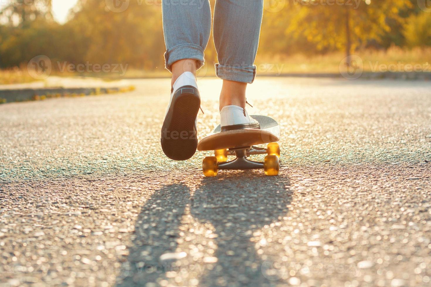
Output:
<svg viewBox="0 0 431 287">
<path fill-rule="evenodd" d="M 226 105 L 245 108 L 247 83 L 256 75 L 257 47 L 263 15 L 263 0 L 217 0 L 214 10 L 214 43 L 223 79 L 220 109 Z"/>
</svg>

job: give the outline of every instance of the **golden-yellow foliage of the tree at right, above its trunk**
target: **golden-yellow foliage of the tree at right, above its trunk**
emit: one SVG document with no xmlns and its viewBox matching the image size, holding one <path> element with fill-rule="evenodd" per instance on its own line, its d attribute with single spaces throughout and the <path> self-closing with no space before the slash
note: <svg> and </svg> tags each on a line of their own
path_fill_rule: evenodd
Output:
<svg viewBox="0 0 431 287">
<path fill-rule="evenodd" d="M 284 9 L 291 17 L 286 33 L 305 36 L 319 51 L 344 50 L 350 63 L 353 50 L 389 33 L 388 22 L 401 22 L 400 10 L 410 5 L 410 0 L 292 0 Z"/>
</svg>

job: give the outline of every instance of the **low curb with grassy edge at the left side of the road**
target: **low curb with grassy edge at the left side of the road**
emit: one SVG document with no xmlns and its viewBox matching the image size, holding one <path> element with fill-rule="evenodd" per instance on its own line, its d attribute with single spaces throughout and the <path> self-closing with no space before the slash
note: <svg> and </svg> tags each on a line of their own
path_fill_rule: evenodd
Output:
<svg viewBox="0 0 431 287">
<path fill-rule="evenodd" d="M 50 98 L 96 96 L 100 94 L 127 93 L 134 86 L 112 88 L 47 88 L 47 89 L 3 89 L 0 90 L 0 104 L 6 102 L 41 101 Z"/>
</svg>

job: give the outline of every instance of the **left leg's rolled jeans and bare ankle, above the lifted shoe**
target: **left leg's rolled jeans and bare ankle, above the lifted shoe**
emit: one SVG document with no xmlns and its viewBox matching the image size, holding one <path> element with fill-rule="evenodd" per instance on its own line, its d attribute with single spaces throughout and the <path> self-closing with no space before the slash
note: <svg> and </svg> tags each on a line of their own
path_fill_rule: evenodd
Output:
<svg viewBox="0 0 431 287">
<path fill-rule="evenodd" d="M 162 16 L 165 65 L 172 72 L 173 85 L 182 73 L 196 74 L 202 67 L 211 31 L 211 9 L 208 0 L 162 1 Z"/>
</svg>

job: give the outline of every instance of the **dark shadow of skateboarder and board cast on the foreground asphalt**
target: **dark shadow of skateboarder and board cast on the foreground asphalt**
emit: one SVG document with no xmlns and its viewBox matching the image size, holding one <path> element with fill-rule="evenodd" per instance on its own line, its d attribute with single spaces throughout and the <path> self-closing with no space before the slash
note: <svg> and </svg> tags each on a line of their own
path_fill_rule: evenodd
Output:
<svg viewBox="0 0 431 287">
<path fill-rule="evenodd" d="M 178 268 L 178 260 L 184 257 L 192 260 L 188 249 L 177 249 L 180 232 L 184 231 L 184 228 L 180 230 L 181 219 L 186 213 L 195 222 L 215 229 L 213 241 L 217 248 L 212 258 L 216 262 L 210 268 L 201 266 L 202 272 L 196 278 L 200 286 L 270 284 L 262 272 L 263 262 L 257 254 L 256 242 L 250 239 L 254 232 L 286 216 L 291 201 L 289 185 L 288 177 L 244 171 L 202 179 L 194 192 L 184 184 L 161 188 L 141 210 L 135 225 L 136 237 L 129 249 L 128 266 L 123 268 L 127 270 L 117 276 L 117 285 L 143 286 L 163 279 L 174 280 L 166 277 L 170 271 L 177 272 L 175 276 L 190 278 L 183 274 L 190 267 Z M 187 226 L 186 231 L 189 228 L 193 226 Z"/>
</svg>

